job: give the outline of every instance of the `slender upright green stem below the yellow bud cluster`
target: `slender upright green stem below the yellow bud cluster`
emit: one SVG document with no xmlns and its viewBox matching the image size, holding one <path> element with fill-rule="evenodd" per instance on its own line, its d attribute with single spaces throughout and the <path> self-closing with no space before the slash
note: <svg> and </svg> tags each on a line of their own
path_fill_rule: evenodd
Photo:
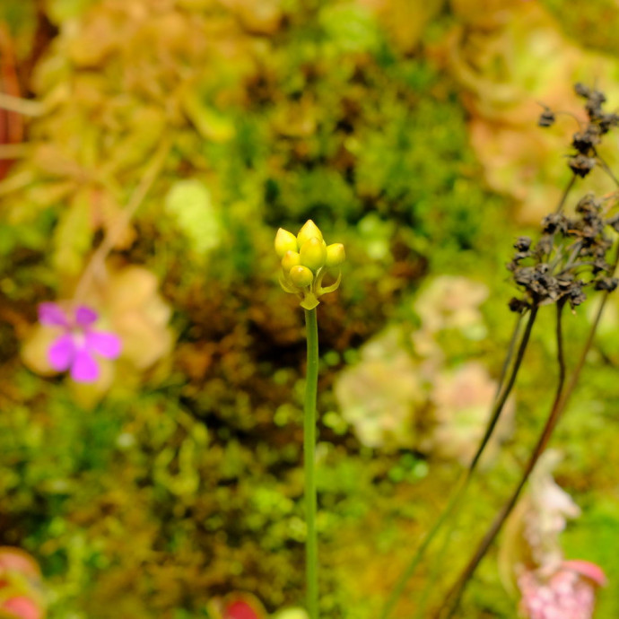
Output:
<svg viewBox="0 0 619 619">
<path fill-rule="evenodd" d="M 305 310 L 308 367 L 305 383 L 303 466 L 305 468 L 306 581 L 309 619 L 318 619 L 318 540 L 316 536 L 316 397 L 318 393 L 318 321 L 316 308 Z"/>
</svg>

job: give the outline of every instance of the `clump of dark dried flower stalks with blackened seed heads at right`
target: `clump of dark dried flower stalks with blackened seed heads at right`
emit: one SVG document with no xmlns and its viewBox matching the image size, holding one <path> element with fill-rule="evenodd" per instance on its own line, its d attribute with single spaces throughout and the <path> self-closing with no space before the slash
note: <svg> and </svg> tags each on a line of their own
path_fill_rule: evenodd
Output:
<svg viewBox="0 0 619 619">
<path fill-rule="evenodd" d="M 619 126 L 619 116 L 615 113 L 606 113 L 602 106 L 606 97 L 602 92 L 589 89 L 583 84 L 576 84 L 575 91 L 586 100 L 585 111 L 588 116 L 586 126 L 580 126 L 580 130 L 572 136 L 571 147 L 574 151 L 569 155 L 568 166 L 572 171 L 572 177 L 565 187 L 562 197 L 554 213 L 545 216 L 542 221 L 542 231 L 539 240 L 533 243 L 529 237 L 519 237 L 513 245 L 516 250 L 508 264 L 513 282 L 521 292 L 519 297 L 514 297 L 509 303 L 512 311 L 519 314 L 519 320 L 528 314 L 527 325 L 522 335 L 519 334 L 519 322 L 514 330 L 512 344 L 508 352 L 501 376 L 501 386 L 493 404 L 491 418 L 488 423 L 484 438 L 475 453 L 471 465 L 460 480 L 457 488 L 436 520 L 434 526 L 423 539 L 422 544 L 406 567 L 404 573 L 397 582 L 392 594 L 380 615 L 381 619 L 388 619 L 396 606 L 397 599 L 402 595 L 405 583 L 411 578 L 416 566 L 421 562 L 423 554 L 438 534 L 440 528 L 449 518 L 457 512 L 459 505 L 466 493 L 466 489 L 485 446 L 490 440 L 494 427 L 501 415 L 502 407 L 515 384 L 521 363 L 524 358 L 529 336 L 536 321 L 539 309 L 545 305 L 555 305 L 557 316 L 557 359 L 559 364 L 559 378 L 554 397 L 554 405 L 545 423 L 545 428 L 536 442 L 527 466 L 521 476 L 517 489 L 512 493 L 510 500 L 501 508 L 492 526 L 484 536 L 484 539 L 475 550 L 475 554 L 466 565 L 465 570 L 458 578 L 453 588 L 444 598 L 443 604 L 437 616 L 451 617 L 458 608 L 459 599 L 466 588 L 468 580 L 473 576 L 479 562 L 484 557 L 493 539 L 498 535 L 505 519 L 515 506 L 519 493 L 527 483 L 537 459 L 545 450 L 552 432 L 559 421 L 562 412 L 567 405 L 571 392 L 580 377 L 588 349 L 593 341 L 599 318 L 604 308 L 604 303 L 609 292 L 613 292 L 619 283 L 615 277 L 615 268 L 619 262 L 619 251 L 609 266 L 606 260 L 608 250 L 613 246 L 614 232 L 619 232 L 619 214 L 612 214 L 619 192 L 604 199 L 598 199 L 592 194 L 583 196 L 575 205 L 573 214 L 564 214 L 564 206 L 571 189 L 578 178 L 584 178 L 595 167 L 601 168 L 614 180 L 619 187 L 619 180 L 606 165 L 606 162 L 597 153 L 597 146 L 601 144 L 603 136 L 608 131 Z M 538 124 L 539 126 L 552 126 L 556 116 L 552 109 L 543 106 Z M 578 307 L 586 300 L 585 291 L 592 289 L 605 293 L 600 308 L 597 310 L 597 318 L 591 327 L 586 344 L 580 353 L 579 361 L 571 374 L 568 387 L 565 384 L 565 362 L 563 359 L 562 345 L 562 309 L 567 303 L 571 309 Z M 517 339 L 519 344 L 516 345 Z"/>
</svg>

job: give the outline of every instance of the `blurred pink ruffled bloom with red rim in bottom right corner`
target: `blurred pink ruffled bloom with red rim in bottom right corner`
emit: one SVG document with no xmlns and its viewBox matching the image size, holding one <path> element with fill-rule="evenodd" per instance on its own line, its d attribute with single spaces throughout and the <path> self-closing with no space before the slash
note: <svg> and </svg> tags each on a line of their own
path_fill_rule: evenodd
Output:
<svg viewBox="0 0 619 619">
<path fill-rule="evenodd" d="M 523 571 L 520 611 L 528 619 L 591 619 L 604 572 L 588 561 L 564 561 L 553 573 Z"/>
</svg>

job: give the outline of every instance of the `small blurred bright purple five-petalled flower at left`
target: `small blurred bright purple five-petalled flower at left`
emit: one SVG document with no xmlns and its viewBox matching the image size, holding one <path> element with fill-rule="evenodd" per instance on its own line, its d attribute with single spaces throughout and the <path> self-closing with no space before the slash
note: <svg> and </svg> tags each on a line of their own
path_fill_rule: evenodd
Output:
<svg viewBox="0 0 619 619">
<path fill-rule="evenodd" d="M 41 325 L 62 330 L 48 350 L 48 361 L 56 371 L 70 370 L 75 382 L 94 382 L 99 378 L 95 355 L 116 359 L 120 353 L 118 336 L 92 328 L 97 318 L 97 312 L 85 305 L 70 311 L 57 303 L 39 305 Z"/>
</svg>

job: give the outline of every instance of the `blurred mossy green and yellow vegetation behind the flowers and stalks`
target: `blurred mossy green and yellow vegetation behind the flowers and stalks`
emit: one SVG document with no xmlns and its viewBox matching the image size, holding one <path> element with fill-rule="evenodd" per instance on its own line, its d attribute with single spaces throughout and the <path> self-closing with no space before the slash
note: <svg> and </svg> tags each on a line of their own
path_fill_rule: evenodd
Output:
<svg viewBox="0 0 619 619">
<path fill-rule="evenodd" d="M 268 612 L 300 604 L 304 337 L 272 243 L 309 218 L 348 256 L 318 309 L 321 604 L 376 616 L 480 436 L 513 323 L 511 244 L 570 178 L 575 125 L 538 128 L 538 101 L 576 110 L 580 80 L 613 108 L 618 14 L 612 0 L 2 4 L 3 90 L 37 105 L 3 116 L 22 145 L 0 181 L 0 543 L 40 562 L 49 617 L 208 616 L 232 590 Z M 75 385 L 46 368 L 37 306 L 72 298 L 151 173 L 85 292 L 124 353 Z M 579 195 L 612 187 L 592 177 Z M 606 571 L 608 618 L 611 306 L 555 440 L 582 509 L 565 552 Z M 573 354 L 590 313 L 566 320 Z M 538 432 L 551 318 L 431 604 Z M 397 616 L 413 616 L 426 563 Z M 499 573 L 494 552 L 463 616 L 517 615 Z"/>
</svg>

